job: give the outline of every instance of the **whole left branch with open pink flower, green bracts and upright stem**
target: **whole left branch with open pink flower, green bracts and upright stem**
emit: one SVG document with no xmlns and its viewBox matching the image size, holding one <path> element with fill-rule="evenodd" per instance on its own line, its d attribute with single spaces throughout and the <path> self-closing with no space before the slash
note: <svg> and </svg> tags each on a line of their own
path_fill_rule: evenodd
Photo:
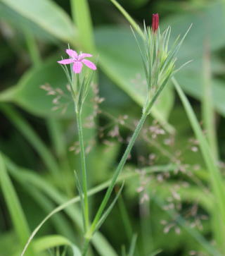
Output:
<svg viewBox="0 0 225 256">
<path fill-rule="evenodd" d="M 66 49 L 65 51 L 70 56 L 70 59 L 62 59 L 61 61 L 58 61 L 58 63 L 61 64 L 63 71 L 68 78 L 72 99 L 75 103 L 75 113 L 77 117 L 77 130 L 81 155 L 82 185 L 79 182 L 79 178 L 77 177 L 76 172 L 75 177 L 77 180 L 77 189 L 79 191 L 81 200 L 84 231 L 86 231 L 89 226 L 89 202 L 87 195 L 86 157 L 82 131 L 82 106 L 89 92 L 94 71 L 96 71 L 97 68 L 93 62 L 86 59 L 92 57 L 91 54 L 77 54 L 77 51 L 72 49 Z M 68 64 L 70 64 L 70 68 L 66 66 Z M 86 73 L 82 73 L 83 64 L 90 68 L 91 72 L 86 71 Z"/>
</svg>

